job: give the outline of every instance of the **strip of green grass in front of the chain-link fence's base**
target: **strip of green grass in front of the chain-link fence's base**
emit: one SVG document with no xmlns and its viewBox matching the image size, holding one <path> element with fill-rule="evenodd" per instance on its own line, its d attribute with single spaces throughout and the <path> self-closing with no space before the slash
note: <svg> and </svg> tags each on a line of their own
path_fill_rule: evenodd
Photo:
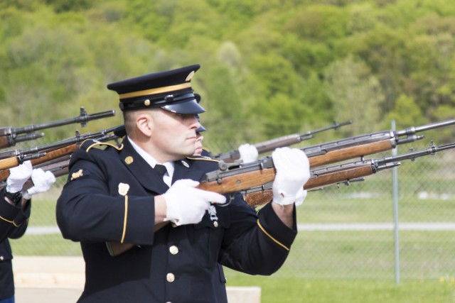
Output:
<svg viewBox="0 0 455 303">
<path fill-rule="evenodd" d="M 455 302 L 455 279 L 346 280 L 286 276 L 257 277 L 226 270 L 228 286 L 261 287 L 261 303 L 449 303 Z"/>
</svg>

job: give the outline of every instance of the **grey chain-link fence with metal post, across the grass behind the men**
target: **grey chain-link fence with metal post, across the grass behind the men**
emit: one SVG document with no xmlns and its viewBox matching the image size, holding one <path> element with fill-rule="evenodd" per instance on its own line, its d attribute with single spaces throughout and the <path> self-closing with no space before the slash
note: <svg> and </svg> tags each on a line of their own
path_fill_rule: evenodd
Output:
<svg viewBox="0 0 455 303">
<path fill-rule="evenodd" d="M 216 144 L 216 143 L 215 143 Z M 237 144 L 215 146 L 229 150 Z M 424 149 L 424 143 L 414 145 Z M 405 153 L 400 147 L 399 153 Z M 385 155 L 375 155 L 382 158 Z M 397 167 L 397 211 L 393 170 L 360 182 L 309 192 L 298 208 L 299 233 L 289 258 L 275 275 L 343 279 L 440 279 L 455 277 L 455 150 L 405 160 Z M 33 199 L 15 255 L 81 255 L 55 223 L 55 202 L 66 177 Z M 394 218 L 398 219 L 395 231 Z M 254 277 L 252 277 L 254 279 Z"/>
</svg>

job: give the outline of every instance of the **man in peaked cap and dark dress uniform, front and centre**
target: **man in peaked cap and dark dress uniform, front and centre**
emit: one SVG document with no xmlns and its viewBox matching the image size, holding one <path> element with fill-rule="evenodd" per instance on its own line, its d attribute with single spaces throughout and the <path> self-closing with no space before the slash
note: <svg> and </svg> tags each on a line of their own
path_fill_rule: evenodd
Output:
<svg viewBox="0 0 455 303">
<path fill-rule="evenodd" d="M 191 87 L 198 69 L 107 85 L 119 94 L 127 136 L 121 146 L 88 141 L 73 153 L 56 208 L 63 237 L 80 242 L 85 260 L 78 302 L 227 302 L 223 265 L 271 275 L 286 260 L 308 159 L 298 149 L 272 153 L 274 199 L 259 213 L 240 193 L 226 203 L 197 189 L 218 169 L 192 156 L 195 115 L 204 111 Z M 131 248 L 112 256 L 112 242 Z"/>
</svg>

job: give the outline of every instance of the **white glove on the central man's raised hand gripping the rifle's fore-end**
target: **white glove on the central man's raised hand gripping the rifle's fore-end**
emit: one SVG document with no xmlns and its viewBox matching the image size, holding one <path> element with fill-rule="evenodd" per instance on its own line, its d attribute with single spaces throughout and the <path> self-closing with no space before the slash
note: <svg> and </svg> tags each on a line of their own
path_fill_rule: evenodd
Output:
<svg viewBox="0 0 455 303">
<path fill-rule="evenodd" d="M 304 184 L 310 177 L 310 165 L 305 153 L 297 148 L 277 148 L 272 153 L 277 175 L 272 184 L 273 202 L 280 205 L 304 202 Z"/>
</svg>

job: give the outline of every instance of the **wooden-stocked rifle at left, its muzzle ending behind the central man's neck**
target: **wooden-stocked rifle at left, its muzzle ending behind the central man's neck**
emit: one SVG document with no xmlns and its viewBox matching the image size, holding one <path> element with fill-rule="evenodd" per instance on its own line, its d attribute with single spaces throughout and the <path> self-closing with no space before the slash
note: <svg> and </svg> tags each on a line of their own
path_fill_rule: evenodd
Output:
<svg viewBox="0 0 455 303">
<path fill-rule="evenodd" d="M 26 160 L 31 160 L 32 165 L 38 165 L 63 155 L 70 155 L 79 148 L 80 143 L 86 140 L 109 141 L 118 138 L 117 133 L 121 133 L 124 126 L 114 126 L 97 133 L 80 134 L 76 131 L 75 137 L 41 145 L 25 150 L 8 150 L 0 152 L 0 180 L 9 176 L 9 168 L 21 165 Z M 3 170 L 3 171 L 2 171 Z"/>
</svg>

